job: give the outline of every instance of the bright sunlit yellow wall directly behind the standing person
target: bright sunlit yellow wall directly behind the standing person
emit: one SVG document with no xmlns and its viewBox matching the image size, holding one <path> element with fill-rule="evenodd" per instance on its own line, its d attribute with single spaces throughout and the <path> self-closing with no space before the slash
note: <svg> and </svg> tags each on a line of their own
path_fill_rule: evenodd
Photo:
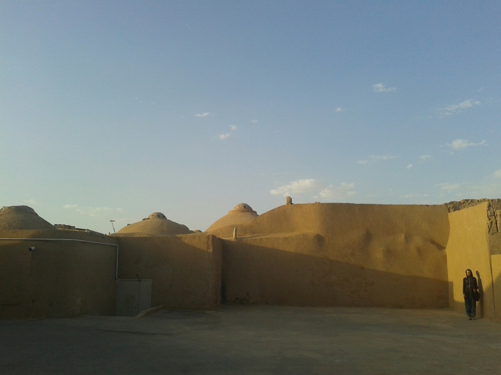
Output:
<svg viewBox="0 0 501 375">
<path fill-rule="evenodd" d="M 494 284 L 487 208 L 488 203 L 481 203 L 449 213 L 450 234 L 447 242 L 447 269 L 451 286 L 449 304 L 456 311 L 464 311 L 462 280 L 465 270 L 471 268 L 478 280 L 481 294 L 480 301 L 477 302 L 477 315 L 494 318 Z M 496 272 L 499 272 L 499 269 Z M 501 303 L 501 300 L 499 301 Z"/>
</svg>

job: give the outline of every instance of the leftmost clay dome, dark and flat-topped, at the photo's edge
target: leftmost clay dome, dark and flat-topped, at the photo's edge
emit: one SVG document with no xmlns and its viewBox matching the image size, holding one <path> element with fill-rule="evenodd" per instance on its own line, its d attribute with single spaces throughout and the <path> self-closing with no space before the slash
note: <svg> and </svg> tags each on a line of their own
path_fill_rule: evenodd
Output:
<svg viewBox="0 0 501 375">
<path fill-rule="evenodd" d="M 4 206 L 0 209 L 0 229 L 56 229 L 27 205 Z"/>
</svg>

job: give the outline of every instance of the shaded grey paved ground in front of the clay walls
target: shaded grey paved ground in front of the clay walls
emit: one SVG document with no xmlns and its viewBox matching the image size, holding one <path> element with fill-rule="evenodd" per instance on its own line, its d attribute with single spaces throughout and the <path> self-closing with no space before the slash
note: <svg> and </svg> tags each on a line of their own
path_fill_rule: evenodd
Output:
<svg viewBox="0 0 501 375">
<path fill-rule="evenodd" d="M 223 306 L 0 320 L 2 374 L 501 373 L 501 324 L 450 310 Z"/>
</svg>

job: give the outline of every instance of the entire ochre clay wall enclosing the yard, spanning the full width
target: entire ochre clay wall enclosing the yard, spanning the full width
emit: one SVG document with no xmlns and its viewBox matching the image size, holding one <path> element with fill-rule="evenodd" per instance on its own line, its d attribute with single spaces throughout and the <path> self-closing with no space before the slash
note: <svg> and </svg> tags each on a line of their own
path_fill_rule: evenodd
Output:
<svg viewBox="0 0 501 375">
<path fill-rule="evenodd" d="M 22 239 L 0 240 L 0 317 L 113 315 L 118 245 L 118 277 L 151 279 L 152 306 L 210 309 L 222 297 L 463 311 L 471 268 L 482 293 L 477 314 L 501 320 L 501 234 L 491 211 L 489 202 L 450 213 L 445 205 L 311 203 L 176 236 L 2 230 Z"/>
</svg>

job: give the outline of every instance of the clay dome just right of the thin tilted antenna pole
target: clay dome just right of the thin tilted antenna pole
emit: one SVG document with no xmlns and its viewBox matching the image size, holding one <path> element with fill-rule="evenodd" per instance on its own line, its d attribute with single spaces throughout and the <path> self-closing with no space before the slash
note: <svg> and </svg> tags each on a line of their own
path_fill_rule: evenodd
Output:
<svg viewBox="0 0 501 375">
<path fill-rule="evenodd" d="M 162 212 L 153 212 L 141 221 L 124 226 L 116 234 L 125 236 L 156 236 L 190 233 L 193 233 L 193 231 L 189 230 L 186 225 L 169 220 Z"/>
</svg>

